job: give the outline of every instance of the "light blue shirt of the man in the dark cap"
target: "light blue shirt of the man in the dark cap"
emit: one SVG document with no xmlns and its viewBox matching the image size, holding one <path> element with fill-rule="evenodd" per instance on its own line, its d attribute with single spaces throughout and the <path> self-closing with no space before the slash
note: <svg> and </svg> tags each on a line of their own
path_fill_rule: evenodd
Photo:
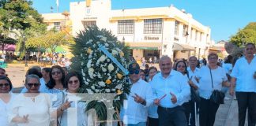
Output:
<svg viewBox="0 0 256 126">
<path fill-rule="evenodd" d="M 135 96 L 135 94 L 145 99 L 146 106 L 134 101 L 134 97 L 132 96 Z M 127 96 L 124 107 L 121 109 L 120 116 L 123 123 L 138 124 L 146 122 L 148 117 L 148 107 L 152 105 L 153 100 L 154 97 L 149 83 L 141 79 L 136 83 L 133 83 L 130 89 L 130 95 Z"/>
</svg>

